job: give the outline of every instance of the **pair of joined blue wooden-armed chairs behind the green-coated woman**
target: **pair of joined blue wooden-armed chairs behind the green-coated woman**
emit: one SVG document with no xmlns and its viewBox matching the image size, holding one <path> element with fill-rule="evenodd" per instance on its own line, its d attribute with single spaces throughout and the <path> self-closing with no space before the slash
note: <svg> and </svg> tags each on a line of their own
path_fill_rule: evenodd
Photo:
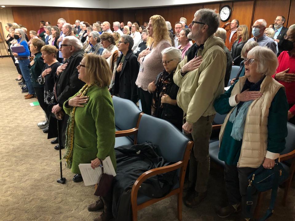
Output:
<svg viewBox="0 0 295 221">
<path fill-rule="evenodd" d="M 149 141 L 159 146 L 159 153 L 165 160 L 175 162 L 146 171 L 137 178 L 131 191 L 132 220 L 137 221 L 137 211 L 173 195 L 177 195 L 177 214 L 178 219 L 182 220 L 183 183 L 193 142 L 170 122 L 142 113 L 132 101 L 116 96 L 112 99 L 116 125 L 115 148 Z M 166 196 L 149 198 L 138 193 L 140 185 L 151 176 L 173 170 L 178 170 L 179 182 Z"/>
</svg>

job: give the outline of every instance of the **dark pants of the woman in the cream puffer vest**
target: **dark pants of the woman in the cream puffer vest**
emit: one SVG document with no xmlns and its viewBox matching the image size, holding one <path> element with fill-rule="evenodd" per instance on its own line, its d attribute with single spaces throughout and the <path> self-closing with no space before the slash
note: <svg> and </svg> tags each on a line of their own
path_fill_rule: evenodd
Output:
<svg viewBox="0 0 295 221">
<path fill-rule="evenodd" d="M 256 168 L 237 167 L 237 165 L 227 165 L 224 167 L 224 180 L 226 186 L 227 197 L 230 205 L 241 203 L 242 218 L 253 218 L 254 210 L 258 200 L 258 191 L 252 192 L 252 207 L 250 217 L 246 212 L 247 187 L 249 184 L 248 176 L 253 173 Z"/>
</svg>

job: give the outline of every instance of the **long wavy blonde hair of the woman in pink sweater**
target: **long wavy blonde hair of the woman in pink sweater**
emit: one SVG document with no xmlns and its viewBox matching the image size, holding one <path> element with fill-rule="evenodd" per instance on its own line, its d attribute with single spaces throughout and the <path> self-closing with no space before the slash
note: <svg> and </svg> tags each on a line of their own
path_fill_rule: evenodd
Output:
<svg viewBox="0 0 295 221">
<path fill-rule="evenodd" d="M 162 40 L 166 40 L 171 44 L 171 39 L 169 33 L 167 32 L 167 25 L 165 19 L 161 15 L 153 15 L 152 17 L 150 17 L 150 20 L 153 25 L 154 33 L 152 37 L 148 38 L 148 47 L 150 47 L 152 43 L 153 47 L 155 47 L 159 43 L 159 41 Z"/>
</svg>

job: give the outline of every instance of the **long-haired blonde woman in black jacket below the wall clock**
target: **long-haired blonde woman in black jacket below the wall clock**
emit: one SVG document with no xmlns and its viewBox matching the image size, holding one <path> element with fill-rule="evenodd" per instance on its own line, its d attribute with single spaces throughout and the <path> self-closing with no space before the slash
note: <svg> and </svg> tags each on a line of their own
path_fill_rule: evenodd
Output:
<svg viewBox="0 0 295 221">
<path fill-rule="evenodd" d="M 231 56 L 233 58 L 233 65 L 240 65 L 241 61 L 241 51 L 246 42 L 248 41 L 248 28 L 246 25 L 240 25 L 237 29 L 237 38 L 230 50 Z"/>
</svg>

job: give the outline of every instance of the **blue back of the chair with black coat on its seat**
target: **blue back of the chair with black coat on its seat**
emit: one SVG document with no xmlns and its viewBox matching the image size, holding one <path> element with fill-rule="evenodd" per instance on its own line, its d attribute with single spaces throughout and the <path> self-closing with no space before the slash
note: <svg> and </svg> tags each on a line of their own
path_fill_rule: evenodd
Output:
<svg viewBox="0 0 295 221">
<path fill-rule="evenodd" d="M 159 154 L 165 160 L 183 160 L 187 143 L 190 141 L 173 124 L 163 119 L 143 114 L 140 119 L 137 143 L 146 141 L 159 145 Z"/>
</svg>

